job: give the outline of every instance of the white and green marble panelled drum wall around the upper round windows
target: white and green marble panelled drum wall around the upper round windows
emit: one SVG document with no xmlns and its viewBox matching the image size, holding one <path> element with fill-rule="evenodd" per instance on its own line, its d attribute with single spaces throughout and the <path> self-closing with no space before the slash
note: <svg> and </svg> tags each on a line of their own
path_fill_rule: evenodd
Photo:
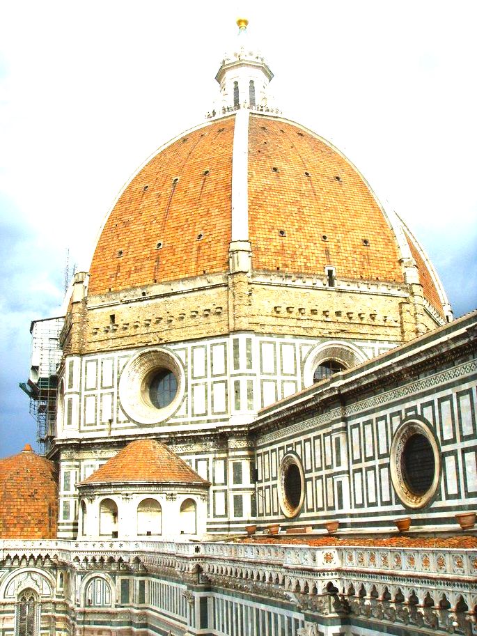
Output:
<svg viewBox="0 0 477 636">
<path fill-rule="evenodd" d="M 138 421 L 134 396 L 129 413 L 125 412 L 125 395 L 120 378 L 126 365 L 153 347 L 68 356 L 65 359 L 64 405 L 58 409 L 58 440 L 77 437 L 111 437 L 136 433 L 164 433 L 219 426 L 229 418 L 246 421 L 260 408 L 290 396 L 307 385 L 304 370 L 315 347 L 325 339 L 295 336 L 259 336 L 237 333 L 224 338 L 201 339 L 159 346 L 178 361 L 184 375 L 177 408 L 164 419 L 161 410 L 155 419 Z M 359 353 L 357 362 L 380 355 L 392 348 L 388 341 L 334 340 L 334 346 L 353 346 Z M 158 363 L 159 364 L 159 363 Z M 135 371 L 142 373 L 140 365 Z M 140 389 L 137 391 L 140 399 Z M 139 416 L 139 413 L 138 413 Z M 234 424 L 234 419 L 232 420 Z"/>
</svg>

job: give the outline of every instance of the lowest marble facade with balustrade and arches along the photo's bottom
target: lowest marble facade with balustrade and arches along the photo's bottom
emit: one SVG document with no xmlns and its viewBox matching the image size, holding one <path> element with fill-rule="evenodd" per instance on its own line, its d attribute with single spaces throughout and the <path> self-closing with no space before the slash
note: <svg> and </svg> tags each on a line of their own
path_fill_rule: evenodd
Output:
<svg viewBox="0 0 477 636">
<path fill-rule="evenodd" d="M 474 561 L 396 545 L 0 541 L 0 634 L 470 634 Z"/>
</svg>

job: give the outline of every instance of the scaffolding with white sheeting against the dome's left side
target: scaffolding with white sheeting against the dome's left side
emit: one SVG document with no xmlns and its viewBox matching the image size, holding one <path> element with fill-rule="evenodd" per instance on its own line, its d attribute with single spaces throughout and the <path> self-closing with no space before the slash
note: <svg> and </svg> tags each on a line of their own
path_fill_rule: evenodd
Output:
<svg viewBox="0 0 477 636">
<path fill-rule="evenodd" d="M 20 382 L 20 388 L 30 398 L 30 414 L 36 419 L 37 441 L 43 455 L 51 449 L 55 435 L 58 366 L 62 355 L 59 335 L 63 323 L 63 316 L 33 320 L 30 376 L 27 382 Z"/>
</svg>

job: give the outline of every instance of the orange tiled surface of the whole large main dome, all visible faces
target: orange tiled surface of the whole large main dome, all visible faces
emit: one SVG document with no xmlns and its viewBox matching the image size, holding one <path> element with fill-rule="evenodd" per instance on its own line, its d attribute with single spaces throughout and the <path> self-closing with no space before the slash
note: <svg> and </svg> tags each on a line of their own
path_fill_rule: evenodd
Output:
<svg viewBox="0 0 477 636">
<path fill-rule="evenodd" d="M 228 272 L 239 134 L 248 213 L 240 238 L 250 242 L 253 271 L 323 276 L 331 265 L 341 279 L 402 284 L 402 231 L 351 162 L 283 118 L 253 112 L 239 132 L 236 118 L 175 139 L 130 180 L 97 242 L 89 295 Z M 426 300 L 443 316 L 435 272 L 409 242 Z"/>
</svg>

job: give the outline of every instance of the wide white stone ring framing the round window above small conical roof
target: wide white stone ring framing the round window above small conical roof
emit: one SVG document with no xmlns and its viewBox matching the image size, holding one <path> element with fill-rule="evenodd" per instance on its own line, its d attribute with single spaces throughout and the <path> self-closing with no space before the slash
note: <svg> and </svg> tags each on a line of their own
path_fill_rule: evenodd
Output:
<svg viewBox="0 0 477 636">
<path fill-rule="evenodd" d="M 149 396 L 149 383 L 159 369 L 169 369 L 177 380 L 178 388 L 173 400 L 163 408 L 153 405 Z M 171 351 L 152 348 L 139 351 L 125 364 L 119 380 L 121 407 L 137 424 L 159 424 L 175 413 L 185 393 L 184 368 Z"/>
</svg>

